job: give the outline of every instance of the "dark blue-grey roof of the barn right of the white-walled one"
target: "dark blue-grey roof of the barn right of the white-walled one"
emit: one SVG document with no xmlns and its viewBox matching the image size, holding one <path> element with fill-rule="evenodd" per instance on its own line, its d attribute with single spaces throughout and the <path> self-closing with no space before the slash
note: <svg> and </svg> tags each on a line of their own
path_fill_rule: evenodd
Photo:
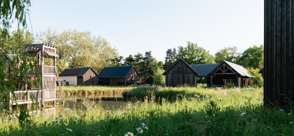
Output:
<svg viewBox="0 0 294 136">
<path fill-rule="evenodd" d="M 98 74 L 98 78 L 126 77 L 134 66 L 104 67 Z M 135 67 L 134 67 L 135 68 Z M 136 70 L 136 68 L 135 68 Z M 137 70 L 136 70 L 137 71 Z M 138 73 L 139 74 L 139 73 Z M 140 75 L 139 75 L 140 76 Z M 141 77 L 141 76 L 140 76 Z"/>
</svg>

